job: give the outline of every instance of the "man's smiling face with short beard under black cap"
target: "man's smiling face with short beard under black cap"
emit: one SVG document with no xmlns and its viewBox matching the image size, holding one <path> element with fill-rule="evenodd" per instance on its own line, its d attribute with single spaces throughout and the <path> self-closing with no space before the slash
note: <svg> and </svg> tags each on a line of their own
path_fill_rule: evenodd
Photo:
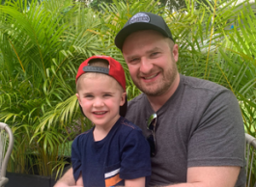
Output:
<svg viewBox="0 0 256 187">
<path fill-rule="evenodd" d="M 153 30 L 132 33 L 125 40 L 123 55 L 131 79 L 143 93 L 156 96 L 171 90 L 179 56 L 178 45 L 171 42 Z"/>
</svg>

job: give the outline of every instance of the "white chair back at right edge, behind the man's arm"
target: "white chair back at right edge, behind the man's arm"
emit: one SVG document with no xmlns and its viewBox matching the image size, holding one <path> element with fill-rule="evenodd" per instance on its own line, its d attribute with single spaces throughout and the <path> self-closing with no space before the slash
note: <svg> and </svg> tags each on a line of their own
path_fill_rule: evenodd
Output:
<svg viewBox="0 0 256 187">
<path fill-rule="evenodd" d="M 254 161 L 255 157 L 255 150 L 256 150 L 256 139 L 245 133 L 245 159 L 246 159 L 246 187 L 255 187 L 256 186 L 256 160 Z M 253 181 L 254 180 L 254 181 Z"/>
</svg>

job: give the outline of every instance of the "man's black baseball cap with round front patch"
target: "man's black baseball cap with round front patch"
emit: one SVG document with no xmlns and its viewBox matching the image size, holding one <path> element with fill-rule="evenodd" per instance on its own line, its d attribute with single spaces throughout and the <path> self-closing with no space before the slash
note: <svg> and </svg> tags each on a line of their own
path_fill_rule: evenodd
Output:
<svg viewBox="0 0 256 187">
<path fill-rule="evenodd" d="M 173 40 L 169 27 L 160 15 L 140 12 L 130 17 L 123 29 L 119 31 L 115 39 L 116 46 L 122 50 L 123 44 L 128 35 L 141 30 L 155 30 L 163 36 Z"/>
</svg>

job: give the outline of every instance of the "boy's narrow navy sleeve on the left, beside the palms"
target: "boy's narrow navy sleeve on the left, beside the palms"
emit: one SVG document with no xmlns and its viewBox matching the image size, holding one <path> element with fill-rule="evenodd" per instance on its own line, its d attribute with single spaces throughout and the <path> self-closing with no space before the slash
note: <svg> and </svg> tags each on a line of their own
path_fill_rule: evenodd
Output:
<svg viewBox="0 0 256 187">
<path fill-rule="evenodd" d="M 82 172 L 81 168 L 81 152 L 79 148 L 79 137 L 76 137 L 72 142 L 71 146 L 71 163 L 74 180 L 77 181 L 80 173 Z"/>
</svg>

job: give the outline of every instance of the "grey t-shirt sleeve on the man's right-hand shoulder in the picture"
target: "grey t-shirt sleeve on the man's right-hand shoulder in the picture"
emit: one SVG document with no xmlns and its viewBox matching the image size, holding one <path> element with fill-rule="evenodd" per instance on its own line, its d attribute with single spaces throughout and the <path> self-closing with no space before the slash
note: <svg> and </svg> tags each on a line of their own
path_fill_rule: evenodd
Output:
<svg viewBox="0 0 256 187">
<path fill-rule="evenodd" d="M 187 166 L 241 166 L 244 158 L 242 113 L 230 91 L 214 95 L 187 147 Z"/>
</svg>

